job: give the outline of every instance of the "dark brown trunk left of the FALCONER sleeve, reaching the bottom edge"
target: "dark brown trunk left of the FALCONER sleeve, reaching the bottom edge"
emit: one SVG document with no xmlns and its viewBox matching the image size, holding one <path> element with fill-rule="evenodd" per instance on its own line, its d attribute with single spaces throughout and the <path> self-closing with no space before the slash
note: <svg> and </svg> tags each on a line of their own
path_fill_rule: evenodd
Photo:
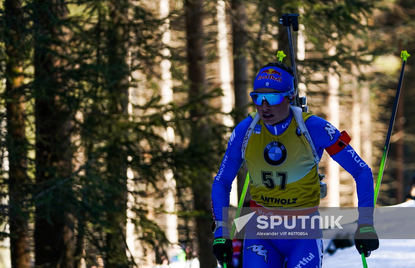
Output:
<svg viewBox="0 0 415 268">
<path fill-rule="evenodd" d="M 205 49 L 203 43 L 203 0 L 185 0 L 186 16 L 186 39 L 187 59 L 189 77 L 189 101 L 192 104 L 197 102 L 190 110 L 191 138 L 189 148 L 197 159 L 205 153 L 211 136 L 209 126 L 205 122 L 204 107 L 206 100 L 200 100 L 200 96 L 206 92 L 205 80 Z M 195 210 L 201 212 L 196 217 L 196 234 L 198 237 L 199 261 L 201 268 L 215 267 L 217 261 L 213 256 L 210 247 L 212 244 L 212 232 L 210 226 L 210 190 L 212 189 L 212 174 L 209 171 L 200 170 L 198 178 L 192 180 Z"/>
</svg>

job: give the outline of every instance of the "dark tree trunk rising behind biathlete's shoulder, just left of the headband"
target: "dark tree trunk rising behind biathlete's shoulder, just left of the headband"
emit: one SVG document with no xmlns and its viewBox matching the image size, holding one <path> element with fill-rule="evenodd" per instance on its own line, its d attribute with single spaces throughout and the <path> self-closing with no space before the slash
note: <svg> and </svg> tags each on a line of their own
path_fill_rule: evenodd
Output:
<svg viewBox="0 0 415 268">
<path fill-rule="evenodd" d="M 247 76 L 247 16 L 244 0 L 232 0 L 232 50 L 234 69 L 235 111 L 234 122 L 238 124 L 248 115 L 248 76 Z M 244 188 L 247 168 L 242 165 L 237 175 L 238 200 Z M 247 198 L 247 197 L 246 197 Z"/>
</svg>

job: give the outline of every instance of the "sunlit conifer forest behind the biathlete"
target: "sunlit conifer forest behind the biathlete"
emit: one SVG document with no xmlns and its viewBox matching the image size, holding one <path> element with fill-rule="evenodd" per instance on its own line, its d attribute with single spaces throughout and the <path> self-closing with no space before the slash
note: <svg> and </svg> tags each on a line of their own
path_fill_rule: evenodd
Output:
<svg viewBox="0 0 415 268">
<path fill-rule="evenodd" d="M 256 71 L 289 55 L 283 13 L 301 14 L 300 96 L 349 132 L 374 178 L 400 51 L 415 53 L 412 0 L 3 0 L 0 12 L 0 266 L 13 268 L 151 267 L 182 248 L 214 267 L 213 176 L 254 110 Z M 380 206 L 413 183 L 411 62 Z M 323 206 L 357 205 L 326 153 L 320 171 Z"/>
</svg>

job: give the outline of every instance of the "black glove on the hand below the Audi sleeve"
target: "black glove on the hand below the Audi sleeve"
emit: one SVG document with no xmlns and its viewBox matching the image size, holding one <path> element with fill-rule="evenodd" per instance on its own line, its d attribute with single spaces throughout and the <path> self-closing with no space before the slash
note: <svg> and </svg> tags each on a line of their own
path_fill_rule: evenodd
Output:
<svg viewBox="0 0 415 268">
<path fill-rule="evenodd" d="M 375 228 L 369 224 L 360 224 L 354 233 L 354 245 L 359 253 L 369 257 L 372 250 L 379 247 L 379 238 Z"/>
</svg>

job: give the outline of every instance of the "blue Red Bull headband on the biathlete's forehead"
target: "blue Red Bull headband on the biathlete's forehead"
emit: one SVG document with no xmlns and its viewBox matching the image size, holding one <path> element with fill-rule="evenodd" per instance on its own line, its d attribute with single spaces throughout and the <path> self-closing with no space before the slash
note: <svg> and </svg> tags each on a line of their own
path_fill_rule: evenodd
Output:
<svg viewBox="0 0 415 268">
<path fill-rule="evenodd" d="M 294 77 L 281 68 L 264 67 L 255 77 L 254 91 L 258 88 L 272 88 L 284 93 L 294 89 Z"/>
</svg>

